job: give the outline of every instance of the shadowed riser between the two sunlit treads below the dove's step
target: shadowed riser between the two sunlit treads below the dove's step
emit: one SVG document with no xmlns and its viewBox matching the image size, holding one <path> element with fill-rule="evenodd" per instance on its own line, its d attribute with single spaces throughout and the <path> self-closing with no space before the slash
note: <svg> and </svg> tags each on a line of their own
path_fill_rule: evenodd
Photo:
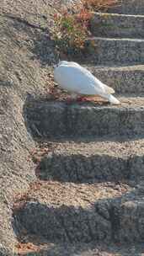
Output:
<svg viewBox="0 0 144 256">
<path fill-rule="evenodd" d="M 88 183 L 141 179 L 144 177 L 144 156 L 112 157 L 96 154 L 91 157 L 67 152 L 62 156 L 50 154 L 44 157 L 37 173 L 39 179 L 62 182 Z"/>
</svg>

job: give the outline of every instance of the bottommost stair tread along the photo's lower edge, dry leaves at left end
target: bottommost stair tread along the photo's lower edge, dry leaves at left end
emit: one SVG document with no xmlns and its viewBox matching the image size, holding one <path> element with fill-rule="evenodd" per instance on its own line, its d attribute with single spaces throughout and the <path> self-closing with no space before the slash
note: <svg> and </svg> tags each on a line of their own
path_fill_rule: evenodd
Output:
<svg viewBox="0 0 144 256">
<path fill-rule="evenodd" d="M 135 244 L 135 246 L 121 245 L 120 243 L 117 245 L 115 243 L 109 243 L 109 245 L 97 243 L 56 244 L 47 242 L 43 237 L 33 235 L 25 237 L 17 251 L 25 256 L 29 256 L 29 253 L 35 253 L 35 256 L 142 256 L 144 245 L 143 243 Z"/>
</svg>

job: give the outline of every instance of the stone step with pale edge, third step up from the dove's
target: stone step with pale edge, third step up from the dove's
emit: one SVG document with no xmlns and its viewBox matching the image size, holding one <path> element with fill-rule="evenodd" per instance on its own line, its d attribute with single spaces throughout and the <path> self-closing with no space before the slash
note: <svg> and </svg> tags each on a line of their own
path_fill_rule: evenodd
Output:
<svg viewBox="0 0 144 256">
<path fill-rule="evenodd" d="M 93 13 L 91 29 L 95 36 L 144 38 L 144 15 Z"/>
</svg>

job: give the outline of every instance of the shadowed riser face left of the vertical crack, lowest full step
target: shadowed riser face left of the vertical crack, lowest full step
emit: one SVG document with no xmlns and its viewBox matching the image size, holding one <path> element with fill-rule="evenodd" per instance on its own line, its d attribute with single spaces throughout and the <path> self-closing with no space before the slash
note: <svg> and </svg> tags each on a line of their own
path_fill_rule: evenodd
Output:
<svg viewBox="0 0 144 256">
<path fill-rule="evenodd" d="M 110 221 L 83 207 L 63 205 L 56 209 L 29 202 L 17 219 L 29 233 L 43 236 L 51 243 L 89 243 L 111 238 Z"/>
</svg>

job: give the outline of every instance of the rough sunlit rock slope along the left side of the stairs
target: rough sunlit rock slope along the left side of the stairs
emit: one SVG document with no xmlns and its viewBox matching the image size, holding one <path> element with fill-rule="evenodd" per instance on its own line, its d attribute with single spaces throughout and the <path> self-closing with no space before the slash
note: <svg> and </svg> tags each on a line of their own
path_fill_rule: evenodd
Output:
<svg viewBox="0 0 144 256">
<path fill-rule="evenodd" d="M 47 86 L 44 74 L 49 68 L 44 63 L 46 59 L 50 65 L 48 56 L 52 48 L 47 32 L 39 26 L 40 20 L 41 23 L 45 20 L 44 9 L 50 12 L 43 1 L 4 0 L 0 4 L 0 255 L 3 256 L 12 256 L 18 243 L 11 223 L 13 197 L 28 189 L 35 179 L 34 163 L 28 162 L 35 142 L 24 124 L 23 106 L 28 93 L 44 93 Z"/>
</svg>

